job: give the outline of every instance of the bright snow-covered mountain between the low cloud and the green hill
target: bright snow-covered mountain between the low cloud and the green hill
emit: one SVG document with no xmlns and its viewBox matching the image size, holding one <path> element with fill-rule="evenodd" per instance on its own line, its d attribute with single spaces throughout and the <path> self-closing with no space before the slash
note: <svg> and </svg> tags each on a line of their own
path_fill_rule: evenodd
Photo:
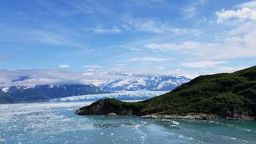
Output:
<svg viewBox="0 0 256 144">
<path fill-rule="evenodd" d="M 88 70 L 84 73 L 84 75 L 90 76 L 103 74 L 116 76 L 116 78 L 106 79 L 105 83 L 98 85 L 103 90 L 108 91 L 171 91 L 191 80 L 183 76 L 128 74 L 125 71 L 102 73 L 97 70 Z"/>
</svg>

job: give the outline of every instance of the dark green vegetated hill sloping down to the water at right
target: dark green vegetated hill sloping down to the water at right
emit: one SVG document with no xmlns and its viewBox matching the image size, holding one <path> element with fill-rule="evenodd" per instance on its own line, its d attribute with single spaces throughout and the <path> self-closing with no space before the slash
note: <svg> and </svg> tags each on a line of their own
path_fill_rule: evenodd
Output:
<svg viewBox="0 0 256 144">
<path fill-rule="evenodd" d="M 199 76 L 172 92 L 142 102 L 104 99 L 77 109 L 78 115 L 207 114 L 225 117 L 256 116 L 256 66 L 232 74 Z"/>
</svg>

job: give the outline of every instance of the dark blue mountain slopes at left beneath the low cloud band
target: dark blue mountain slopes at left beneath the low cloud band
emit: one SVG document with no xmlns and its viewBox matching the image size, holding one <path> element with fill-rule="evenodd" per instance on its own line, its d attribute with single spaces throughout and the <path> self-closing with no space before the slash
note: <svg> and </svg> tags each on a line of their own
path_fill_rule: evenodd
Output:
<svg viewBox="0 0 256 144">
<path fill-rule="evenodd" d="M 108 93 L 93 84 L 34 85 L 2 87 L 0 91 L 12 95 L 18 101 L 46 100 L 74 95 Z"/>
</svg>

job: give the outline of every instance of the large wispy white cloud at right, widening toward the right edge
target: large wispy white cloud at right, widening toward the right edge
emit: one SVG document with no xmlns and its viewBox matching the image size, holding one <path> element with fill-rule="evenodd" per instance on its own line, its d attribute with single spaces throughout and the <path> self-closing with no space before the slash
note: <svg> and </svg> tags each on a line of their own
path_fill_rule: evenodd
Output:
<svg viewBox="0 0 256 144">
<path fill-rule="evenodd" d="M 194 56 L 199 60 L 223 60 L 256 56 L 256 25 L 240 26 L 221 33 L 219 38 L 211 43 L 184 41 L 180 43 L 146 44 L 145 47 L 155 52 L 181 52 L 185 54 L 184 56 Z M 236 29 L 238 29 L 237 32 Z"/>
</svg>

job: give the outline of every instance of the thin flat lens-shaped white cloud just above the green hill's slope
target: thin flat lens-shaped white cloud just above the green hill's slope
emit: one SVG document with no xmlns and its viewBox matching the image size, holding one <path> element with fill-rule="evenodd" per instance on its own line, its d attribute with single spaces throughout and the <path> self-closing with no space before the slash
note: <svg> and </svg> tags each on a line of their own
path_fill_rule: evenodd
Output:
<svg viewBox="0 0 256 144">
<path fill-rule="evenodd" d="M 216 65 L 220 65 L 223 63 L 227 63 L 227 62 L 225 62 L 225 61 L 196 61 L 196 62 L 192 62 L 192 63 L 180 63 L 180 66 L 205 68 L 205 67 L 216 67 Z"/>
</svg>

